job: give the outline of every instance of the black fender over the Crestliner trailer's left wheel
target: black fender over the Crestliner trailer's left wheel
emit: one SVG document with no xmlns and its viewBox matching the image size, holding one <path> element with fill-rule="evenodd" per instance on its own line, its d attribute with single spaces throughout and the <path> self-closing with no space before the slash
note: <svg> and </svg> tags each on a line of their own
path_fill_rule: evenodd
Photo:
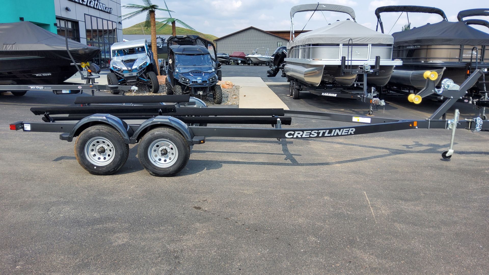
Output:
<svg viewBox="0 0 489 275">
<path fill-rule="evenodd" d="M 129 137 L 132 136 L 133 130 L 122 119 L 109 114 L 95 114 L 82 118 L 75 124 L 69 135 L 61 135 L 60 138 L 63 140 L 72 141 L 73 138 L 78 136 L 83 130 L 96 124 L 107 124 L 114 127 L 117 131 L 119 131 L 119 133 L 121 133 L 126 144 L 131 142 Z"/>
</svg>

